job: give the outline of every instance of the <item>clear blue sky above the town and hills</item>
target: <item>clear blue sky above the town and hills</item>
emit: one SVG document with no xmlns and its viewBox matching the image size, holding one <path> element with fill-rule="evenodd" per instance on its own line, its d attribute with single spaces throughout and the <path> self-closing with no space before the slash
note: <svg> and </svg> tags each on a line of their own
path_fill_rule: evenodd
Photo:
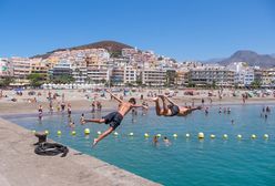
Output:
<svg viewBox="0 0 275 186">
<path fill-rule="evenodd" d="M 0 56 L 115 40 L 181 60 L 275 53 L 273 0 L 0 0 Z"/>
</svg>

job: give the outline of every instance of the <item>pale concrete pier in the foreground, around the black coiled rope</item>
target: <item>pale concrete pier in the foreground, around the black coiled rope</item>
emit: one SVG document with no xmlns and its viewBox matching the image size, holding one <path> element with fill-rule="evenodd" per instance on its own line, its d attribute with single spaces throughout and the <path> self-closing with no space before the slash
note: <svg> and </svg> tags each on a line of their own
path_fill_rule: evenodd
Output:
<svg viewBox="0 0 275 186">
<path fill-rule="evenodd" d="M 70 148 L 67 157 L 34 154 L 31 132 L 0 117 L 1 186 L 159 185 Z"/>
</svg>

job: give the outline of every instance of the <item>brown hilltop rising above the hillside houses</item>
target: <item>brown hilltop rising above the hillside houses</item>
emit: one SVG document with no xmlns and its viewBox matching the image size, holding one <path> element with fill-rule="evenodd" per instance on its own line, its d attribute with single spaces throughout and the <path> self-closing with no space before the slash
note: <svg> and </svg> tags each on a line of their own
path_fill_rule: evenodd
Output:
<svg viewBox="0 0 275 186">
<path fill-rule="evenodd" d="M 84 45 L 79 45 L 79 46 L 72 46 L 72 48 L 67 48 L 67 49 L 57 49 L 51 52 L 47 52 L 45 54 L 38 54 L 32 58 L 43 58 L 47 59 L 49 58 L 53 52 L 58 51 L 65 51 L 65 50 L 84 50 L 84 49 L 105 49 L 108 50 L 111 55 L 120 55 L 122 49 L 133 49 L 133 46 L 120 43 L 116 41 L 100 41 L 95 43 L 90 43 L 90 44 L 84 44 Z"/>
</svg>

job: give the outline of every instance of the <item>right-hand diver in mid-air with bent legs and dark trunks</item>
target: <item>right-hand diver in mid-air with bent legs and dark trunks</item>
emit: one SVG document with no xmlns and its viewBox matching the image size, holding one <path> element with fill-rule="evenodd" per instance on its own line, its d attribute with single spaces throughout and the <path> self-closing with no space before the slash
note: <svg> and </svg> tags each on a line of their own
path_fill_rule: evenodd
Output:
<svg viewBox="0 0 275 186">
<path fill-rule="evenodd" d="M 161 108 L 159 99 L 162 99 L 163 102 L 163 108 Z M 159 95 L 157 97 L 154 97 L 153 101 L 155 102 L 155 112 L 156 115 L 161 116 L 185 116 L 190 113 L 192 113 L 195 110 L 201 110 L 202 106 L 195 106 L 195 107 L 189 107 L 189 106 L 179 106 L 174 102 L 172 102 L 169 97 L 164 95 Z M 167 105 L 167 101 L 170 104 Z"/>
</svg>

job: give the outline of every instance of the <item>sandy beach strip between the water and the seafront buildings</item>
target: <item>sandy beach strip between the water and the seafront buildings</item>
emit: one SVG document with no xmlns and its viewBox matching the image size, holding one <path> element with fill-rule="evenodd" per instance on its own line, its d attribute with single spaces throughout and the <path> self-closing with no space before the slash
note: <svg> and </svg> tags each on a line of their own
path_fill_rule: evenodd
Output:
<svg viewBox="0 0 275 186">
<path fill-rule="evenodd" d="M 35 92 L 35 95 L 28 95 L 28 92 Z M 16 114 L 16 113 L 38 113 L 39 105 L 43 106 L 43 111 L 49 112 L 49 101 L 48 94 L 51 92 L 52 94 L 58 93 L 60 96 L 57 96 L 53 100 L 53 111 L 57 112 L 58 103 L 62 102 L 61 95 L 64 94 L 65 104 L 71 103 L 72 111 L 91 111 L 91 103 L 93 100 L 100 101 L 102 103 L 103 110 L 115 110 L 118 106 L 118 102 L 110 99 L 110 95 L 105 93 L 105 96 L 101 96 L 100 92 L 91 92 L 82 90 L 23 90 L 22 95 L 17 95 L 14 91 L 2 91 L 3 96 L 0 99 L 0 114 Z M 145 101 L 150 107 L 154 107 L 154 103 L 151 101 L 152 96 L 147 96 L 150 93 L 153 95 L 159 94 L 169 94 L 171 91 L 167 90 L 141 90 L 136 92 L 132 92 L 126 96 L 123 95 L 123 92 L 115 92 L 114 94 L 118 96 L 122 96 L 124 100 L 129 100 L 130 97 L 135 97 L 138 103 L 142 103 Z M 213 94 L 213 96 L 208 96 L 208 92 Z M 194 95 L 184 95 L 184 91 L 177 91 L 175 95 L 171 99 L 176 102 L 179 105 L 195 105 L 202 104 L 202 99 L 205 101 L 204 104 L 207 105 L 228 105 L 228 104 L 244 104 L 242 94 L 247 91 L 237 91 L 237 96 L 233 96 L 233 91 L 224 90 L 223 96 L 220 99 L 218 91 L 208 91 L 208 90 L 197 90 L 194 91 Z M 41 93 L 38 96 L 38 93 Z M 143 95 L 143 100 L 141 100 L 141 95 Z M 17 99 L 17 102 L 11 101 L 11 99 Z M 34 102 L 35 100 L 35 102 Z M 211 103 L 212 100 L 212 103 Z M 268 96 L 252 96 L 245 101 L 245 104 L 274 104 L 275 97 L 274 95 Z"/>
</svg>

